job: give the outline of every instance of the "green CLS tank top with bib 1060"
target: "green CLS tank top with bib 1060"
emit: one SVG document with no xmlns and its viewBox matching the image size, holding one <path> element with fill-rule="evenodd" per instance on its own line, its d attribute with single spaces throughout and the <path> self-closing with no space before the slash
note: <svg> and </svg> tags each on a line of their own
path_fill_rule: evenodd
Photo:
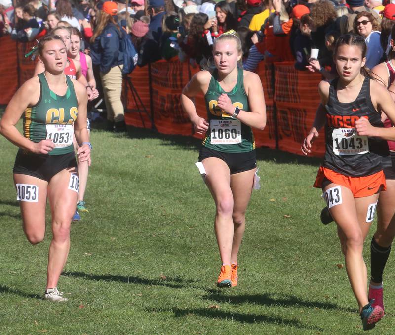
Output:
<svg viewBox="0 0 395 335">
<path fill-rule="evenodd" d="M 244 90 L 243 69 L 237 68 L 237 83 L 230 92 L 225 92 L 218 82 L 214 70 L 204 98 L 209 128 L 203 139 L 203 146 L 221 152 L 249 152 L 255 149 L 251 127 L 223 112 L 218 107 L 218 98 L 226 93 L 233 106 L 248 112 L 248 97 Z"/>
</svg>

